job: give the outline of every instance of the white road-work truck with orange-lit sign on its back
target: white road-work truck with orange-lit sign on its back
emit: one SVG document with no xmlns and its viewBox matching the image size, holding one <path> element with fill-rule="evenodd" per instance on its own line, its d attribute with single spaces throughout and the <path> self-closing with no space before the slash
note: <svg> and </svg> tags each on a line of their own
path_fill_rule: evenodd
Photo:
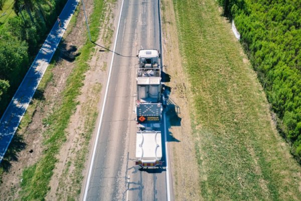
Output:
<svg viewBox="0 0 301 201">
<path fill-rule="evenodd" d="M 142 49 L 137 58 L 135 164 L 142 168 L 156 167 L 162 165 L 160 53 L 155 49 Z"/>
</svg>

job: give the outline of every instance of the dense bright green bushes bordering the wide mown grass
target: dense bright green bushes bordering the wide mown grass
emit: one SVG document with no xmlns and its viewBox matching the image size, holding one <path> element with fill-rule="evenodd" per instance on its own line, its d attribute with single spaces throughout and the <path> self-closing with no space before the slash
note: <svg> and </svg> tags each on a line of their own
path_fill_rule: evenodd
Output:
<svg viewBox="0 0 301 201">
<path fill-rule="evenodd" d="M 234 19 L 277 125 L 301 157 L 301 1 L 218 0 Z M 300 161 L 300 160 L 299 160 Z"/>
</svg>

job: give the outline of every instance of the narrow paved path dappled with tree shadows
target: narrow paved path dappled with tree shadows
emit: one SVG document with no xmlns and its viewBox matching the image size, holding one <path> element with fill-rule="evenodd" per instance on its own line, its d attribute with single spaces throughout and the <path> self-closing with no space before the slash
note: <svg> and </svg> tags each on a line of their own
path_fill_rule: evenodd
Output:
<svg viewBox="0 0 301 201">
<path fill-rule="evenodd" d="M 0 163 L 17 131 L 29 103 L 58 47 L 79 0 L 68 0 L 61 15 L 62 28 L 55 23 L 0 120 Z"/>
</svg>

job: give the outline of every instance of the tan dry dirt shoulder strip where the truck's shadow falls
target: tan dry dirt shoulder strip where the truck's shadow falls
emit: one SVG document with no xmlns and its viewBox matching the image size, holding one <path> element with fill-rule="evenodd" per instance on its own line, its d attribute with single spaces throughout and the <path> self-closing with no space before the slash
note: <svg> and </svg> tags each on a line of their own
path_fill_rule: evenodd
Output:
<svg viewBox="0 0 301 201">
<path fill-rule="evenodd" d="M 169 153 L 176 200 L 202 200 L 195 143 L 190 122 L 189 82 L 182 67 L 173 1 L 161 2 L 164 70 L 169 82 Z M 169 79 L 168 79 L 169 80 Z M 170 88 L 170 89 L 169 89 Z"/>
</svg>

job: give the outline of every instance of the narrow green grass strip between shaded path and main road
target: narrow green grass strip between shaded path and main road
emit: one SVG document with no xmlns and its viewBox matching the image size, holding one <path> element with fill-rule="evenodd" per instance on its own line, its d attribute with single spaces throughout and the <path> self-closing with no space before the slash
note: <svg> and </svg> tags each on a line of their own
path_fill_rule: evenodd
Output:
<svg viewBox="0 0 301 201">
<path fill-rule="evenodd" d="M 103 6 L 103 0 L 94 1 L 94 10 L 90 17 L 90 32 L 93 41 L 98 37 L 100 21 L 104 13 Z M 44 121 L 49 127 L 44 134 L 46 148 L 40 161 L 26 168 L 23 172 L 20 192 L 22 200 L 43 200 L 49 190 L 49 182 L 57 162 L 56 155 L 66 139 L 65 129 L 78 105 L 76 97 L 80 94 L 84 73 L 89 69 L 87 61 L 90 59 L 90 52 L 93 47 L 94 44 L 87 39 L 80 50 L 80 56 L 75 60 L 76 67 L 67 79 L 66 88 L 62 93 L 61 106 Z"/>
</svg>

